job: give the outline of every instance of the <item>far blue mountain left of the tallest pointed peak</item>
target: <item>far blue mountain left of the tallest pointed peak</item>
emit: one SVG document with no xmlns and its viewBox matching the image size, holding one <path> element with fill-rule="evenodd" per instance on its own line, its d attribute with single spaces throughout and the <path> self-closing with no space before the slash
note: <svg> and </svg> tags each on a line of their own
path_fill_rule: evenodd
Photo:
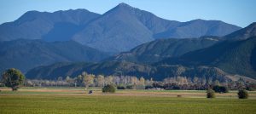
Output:
<svg viewBox="0 0 256 114">
<path fill-rule="evenodd" d="M 82 14 L 80 14 L 82 12 Z M 21 15 L 19 19 L 3 23 L 0 26 L 0 40 L 10 41 L 19 38 L 42 39 L 56 23 L 68 23 L 78 25 L 80 20 L 84 23 L 96 18 L 99 14 L 92 13 L 86 9 L 38 12 L 28 11 Z M 15 35 L 13 35 L 15 33 Z"/>
</svg>

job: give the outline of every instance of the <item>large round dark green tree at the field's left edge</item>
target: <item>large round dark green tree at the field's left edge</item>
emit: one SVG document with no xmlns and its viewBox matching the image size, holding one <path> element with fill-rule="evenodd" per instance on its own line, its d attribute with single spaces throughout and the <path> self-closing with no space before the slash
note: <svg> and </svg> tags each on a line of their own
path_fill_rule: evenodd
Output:
<svg viewBox="0 0 256 114">
<path fill-rule="evenodd" d="M 10 87 L 13 91 L 17 90 L 24 83 L 25 76 L 21 71 L 11 68 L 3 72 L 2 81 L 5 86 Z"/>
</svg>

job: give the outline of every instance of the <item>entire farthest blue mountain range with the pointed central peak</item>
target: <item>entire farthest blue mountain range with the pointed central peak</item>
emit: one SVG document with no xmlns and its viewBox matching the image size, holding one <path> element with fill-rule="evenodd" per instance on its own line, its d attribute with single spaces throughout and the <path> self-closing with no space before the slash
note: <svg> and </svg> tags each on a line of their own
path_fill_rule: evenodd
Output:
<svg viewBox="0 0 256 114">
<path fill-rule="evenodd" d="M 29 11 L 18 20 L 0 26 L 0 41 L 20 38 L 49 42 L 73 40 L 117 54 L 159 38 L 222 37 L 239 29 L 241 27 L 220 20 L 165 20 L 120 3 L 104 14 L 86 9 L 54 13 Z"/>
</svg>

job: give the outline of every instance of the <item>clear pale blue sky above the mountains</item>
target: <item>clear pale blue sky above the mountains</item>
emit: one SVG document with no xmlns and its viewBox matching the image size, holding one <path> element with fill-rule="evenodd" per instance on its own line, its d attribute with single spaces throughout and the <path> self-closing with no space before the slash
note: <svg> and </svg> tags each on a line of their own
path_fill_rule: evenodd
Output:
<svg viewBox="0 0 256 114">
<path fill-rule="evenodd" d="M 241 27 L 256 21 L 256 0 L 0 0 L 0 24 L 16 20 L 29 10 L 88 9 L 103 14 L 119 3 L 167 20 L 223 20 Z"/>
</svg>

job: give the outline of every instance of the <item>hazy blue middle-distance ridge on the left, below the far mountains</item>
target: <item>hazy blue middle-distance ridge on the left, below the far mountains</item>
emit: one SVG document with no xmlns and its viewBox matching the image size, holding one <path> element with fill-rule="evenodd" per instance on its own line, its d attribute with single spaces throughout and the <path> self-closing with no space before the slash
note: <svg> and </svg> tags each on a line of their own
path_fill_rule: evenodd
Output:
<svg viewBox="0 0 256 114">
<path fill-rule="evenodd" d="M 0 54 L 0 71 L 15 67 L 24 72 L 55 62 L 96 62 L 108 57 L 106 53 L 74 41 L 48 43 L 27 39 L 0 42 Z"/>
</svg>

